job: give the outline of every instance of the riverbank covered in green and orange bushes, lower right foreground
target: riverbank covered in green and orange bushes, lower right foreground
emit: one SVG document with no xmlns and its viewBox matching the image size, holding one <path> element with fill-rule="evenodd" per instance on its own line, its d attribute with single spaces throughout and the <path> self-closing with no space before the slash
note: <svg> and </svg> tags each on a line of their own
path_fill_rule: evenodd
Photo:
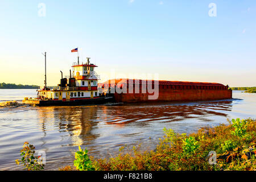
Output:
<svg viewBox="0 0 256 182">
<path fill-rule="evenodd" d="M 95 170 L 255 170 L 256 120 L 236 119 L 229 125 L 203 128 L 190 135 L 164 129 L 155 150 L 141 152 L 143 146 L 110 159 L 91 160 Z M 66 166 L 60 170 L 73 170 Z"/>
</svg>

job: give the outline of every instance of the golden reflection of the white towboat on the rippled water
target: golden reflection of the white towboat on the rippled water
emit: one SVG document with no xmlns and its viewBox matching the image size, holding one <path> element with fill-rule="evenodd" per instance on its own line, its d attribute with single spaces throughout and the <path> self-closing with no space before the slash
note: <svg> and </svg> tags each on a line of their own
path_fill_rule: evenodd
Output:
<svg viewBox="0 0 256 182">
<path fill-rule="evenodd" d="M 46 125 L 57 127 L 60 133 L 71 137 L 71 145 L 90 144 L 98 135 L 93 134 L 92 128 L 97 125 L 95 106 L 84 107 L 40 107 L 38 118 L 46 137 Z"/>
</svg>

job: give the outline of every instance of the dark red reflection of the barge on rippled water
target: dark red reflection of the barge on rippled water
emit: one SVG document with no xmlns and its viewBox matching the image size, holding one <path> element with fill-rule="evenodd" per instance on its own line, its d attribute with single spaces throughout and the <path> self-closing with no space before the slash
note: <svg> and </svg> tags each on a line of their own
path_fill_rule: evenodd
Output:
<svg viewBox="0 0 256 182">
<path fill-rule="evenodd" d="M 232 110 L 232 101 L 188 103 L 154 103 L 154 104 L 127 104 L 112 106 L 106 110 L 109 117 L 102 118 L 108 125 L 119 127 L 131 122 L 138 122 L 143 126 L 144 122 L 174 122 L 189 118 L 197 118 L 201 121 L 210 121 L 209 115 L 226 117 L 224 111 Z"/>
</svg>

